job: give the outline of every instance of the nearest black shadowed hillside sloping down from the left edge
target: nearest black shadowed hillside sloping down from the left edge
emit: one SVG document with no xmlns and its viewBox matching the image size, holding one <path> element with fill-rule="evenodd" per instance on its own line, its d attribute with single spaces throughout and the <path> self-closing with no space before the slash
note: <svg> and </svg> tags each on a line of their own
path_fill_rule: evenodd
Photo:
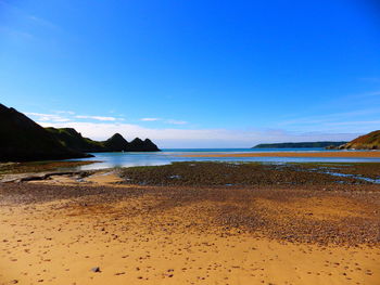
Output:
<svg viewBox="0 0 380 285">
<path fill-rule="evenodd" d="M 14 108 L 0 104 L 0 161 L 81 158 L 91 155 L 62 145 L 50 132 Z"/>
</svg>

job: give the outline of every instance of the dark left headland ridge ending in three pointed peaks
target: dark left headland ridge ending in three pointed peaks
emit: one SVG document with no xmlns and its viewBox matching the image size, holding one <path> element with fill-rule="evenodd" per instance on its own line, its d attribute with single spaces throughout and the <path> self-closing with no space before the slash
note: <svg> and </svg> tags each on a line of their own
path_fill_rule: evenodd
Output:
<svg viewBox="0 0 380 285">
<path fill-rule="evenodd" d="M 119 133 L 98 142 L 72 128 L 42 128 L 0 104 L 0 161 L 54 160 L 91 157 L 91 152 L 159 152 L 149 139 L 127 142 Z"/>
</svg>

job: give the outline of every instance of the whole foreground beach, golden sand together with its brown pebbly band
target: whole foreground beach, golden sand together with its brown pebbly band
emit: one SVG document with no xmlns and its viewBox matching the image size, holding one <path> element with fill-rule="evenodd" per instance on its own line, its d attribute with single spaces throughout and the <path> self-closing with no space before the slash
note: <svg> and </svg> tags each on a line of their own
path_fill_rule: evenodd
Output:
<svg viewBox="0 0 380 285">
<path fill-rule="evenodd" d="M 62 179 L 0 184 L 0 284 L 380 281 L 379 185 Z"/>
</svg>

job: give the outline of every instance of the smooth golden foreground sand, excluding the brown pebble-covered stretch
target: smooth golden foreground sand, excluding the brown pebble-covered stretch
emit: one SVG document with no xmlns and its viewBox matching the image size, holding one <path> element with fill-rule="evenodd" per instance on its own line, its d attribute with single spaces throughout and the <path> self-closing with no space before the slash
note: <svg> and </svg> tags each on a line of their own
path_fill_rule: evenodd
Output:
<svg viewBox="0 0 380 285">
<path fill-rule="evenodd" d="M 102 185 L 116 179 L 100 176 Z M 99 177 L 91 179 L 92 184 Z M 112 189 L 110 189 L 112 191 Z M 162 207 L 152 194 L 87 205 L 86 197 L 0 207 L 0 284 L 363 284 L 380 281 L 379 247 L 274 241 L 213 225 L 210 202 Z M 258 199 L 309 219 L 370 215 L 345 197 Z M 147 210 L 148 209 L 148 210 Z M 198 216 L 189 220 L 188 212 Z M 176 226 L 173 225 L 176 222 Z M 91 271 L 99 267 L 100 272 Z"/>
</svg>

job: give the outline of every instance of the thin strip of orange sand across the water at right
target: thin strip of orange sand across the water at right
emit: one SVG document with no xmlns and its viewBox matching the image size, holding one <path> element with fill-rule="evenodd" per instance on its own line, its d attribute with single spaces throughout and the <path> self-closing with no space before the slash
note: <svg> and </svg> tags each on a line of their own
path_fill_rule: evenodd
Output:
<svg viewBox="0 0 380 285">
<path fill-rule="evenodd" d="M 347 158 L 380 158 L 380 151 L 363 152 L 277 152 L 277 153 L 236 153 L 236 154 L 197 154 L 181 155 L 181 157 L 347 157 Z"/>
</svg>

